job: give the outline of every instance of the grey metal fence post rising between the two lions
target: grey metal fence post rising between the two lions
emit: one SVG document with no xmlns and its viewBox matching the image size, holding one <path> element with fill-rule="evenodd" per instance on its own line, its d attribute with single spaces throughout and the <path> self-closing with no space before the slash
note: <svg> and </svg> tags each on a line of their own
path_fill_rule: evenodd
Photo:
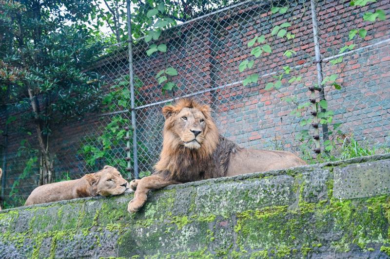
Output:
<svg viewBox="0 0 390 259">
<path fill-rule="evenodd" d="M 128 51 L 129 51 L 129 75 L 130 75 L 130 99 L 131 99 L 131 125 L 133 128 L 133 165 L 134 176 L 138 179 L 138 156 L 137 156 L 137 125 L 136 111 L 134 101 L 134 76 L 133 76 L 133 40 L 131 36 L 131 2 L 127 0 L 127 35 L 128 35 Z M 127 131 L 129 132 L 129 131 Z"/>
</svg>

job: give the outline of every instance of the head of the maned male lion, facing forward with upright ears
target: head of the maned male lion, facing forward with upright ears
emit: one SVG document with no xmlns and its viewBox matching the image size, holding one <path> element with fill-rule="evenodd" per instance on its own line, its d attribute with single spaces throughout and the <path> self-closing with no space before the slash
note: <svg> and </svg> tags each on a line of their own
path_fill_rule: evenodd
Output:
<svg viewBox="0 0 390 259">
<path fill-rule="evenodd" d="M 176 105 L 162 109 L 165 117 L 163 145 L 184 146 L 189 149 L 213 149 L 218 140 L 216 126 L 208 105 L 193 99 L 180 99 Z"/>
</svg>

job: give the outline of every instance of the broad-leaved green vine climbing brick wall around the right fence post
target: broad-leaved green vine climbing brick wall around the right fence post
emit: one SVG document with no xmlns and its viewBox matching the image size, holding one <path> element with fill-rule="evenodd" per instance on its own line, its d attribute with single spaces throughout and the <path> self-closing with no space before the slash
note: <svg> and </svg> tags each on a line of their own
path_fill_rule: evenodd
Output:
<svg viewBox="0 0 390 259">
<path fill-rule="evenodd" d="M 369 4 L 370 2 L 375 2 L 375 0 L 351 1 L 350 5 L 357 6 L 357 7 L 363 7 L 367 4 Z M 283 15 L 284 13 L 287 12 L 288 9 L 289 9 L 288 6 L 281 6 L 281 7 L 273 6 L 271 8 L 271 13 L 272 14 L 279 13 L 279 14 Z M 366 21 L 366 22 L 375 22 L 376 20 L 384 20 L 384 19 L 386 19 L 386 14 L 381 9 L 375 10 L 374 13 L 365 12 L 363 15 L 363 21 Z M 295 37 L 295 35 L 291 34 L 288 31 L 288 28 L 291 26 L 292 26 L 292 24 L 290 22 L 284 22 L 280 25 L 273 26 L 273 28 L 271 30 L 271 37 L 285 38 L 287 41 L 293 39 Z M 362 39 L 364 39 L 367 35 L 367 30 L 363 29 L 363 28 L 352 29 L 349 32 L 349 39 L 351 40 L 354 37 L 356 37 L 357 35 L 359 37 L 361 37 Z M 254 59 L 255 58 L 258 58 L 259 56 L 261 56 L 264 53 L 272 53 L 272 49 L 271 49 L 270 45 L 264 44 L 264 42 L 266 42 L 266 41 L 267 41 L 267 39 L 263 35 L 255 36 L 254 38 L 252 38 L 251 40 L 248 41 L 248 43 L 247 43 L 248 47 L 252 48 L 252 50 L 251 50 L 252 57 L 241 61 L 241 63 L 238 66 L 239 72 L 244 72 L 245 70 L 252 69 L 254 67 Z M 290 43 L 290 46 L 292 46 L 292 43 Z M 339 50 L 338 54 L 343 54 L 346 51 L 351 51 L 354 48 L 354 46 L 355 46 L 354 44 L 344 45 Z M 294 56 L 295 54 L 296 54 L 296 52 L 291 48 L 291 49 L 286 50 L 284 52 L 283 56 L 290 58 L 290 57 Z M 330 60 L 330 62 L 332 65 L 341 63 L 341 62 L 343 62 L 343 56 L 338 56 L 338 57 L 334 58 L 333 60 Z M 274 76 L 275 80 L 273 80 L 273 82 L 267 83 L 265 85 L 264 89 L 265 90 L 274 89 L 274 90 L 280 92 L 279 89 L 282 87 L 282 78 L 285 75 L 290 74 L 290 72 L 291 72 L 291 68 L 289 66 L 284 66 L 282 68 L 282 71 L 278 75 Z M 331 86 L 336 90 L 340 90 L 341 85 L 339 85 L 336 82 L 338 76 L 339 76 L 339 74 L 331 74 L 331 75 L 325 76 L 323 78 L 323 81 L 321 82 L 320 87 Z M 258 74 L 248 75 L 242 81 L 243 86 L 246 86 L 250 83 L 257 83 L 258 77 L 259 77 Z M 288 83 L 291 84 L 293 82 L 299 82 L 301 79 L 302 79 L 302 76 L 300 76 L 300 75 L 299 76 L 292 76 L 290 78 L 290 80 L 288 81 Z M 316 84 L 313 84 L 313 89 L 319 89 L 319 86 Z M 281 98 L 282 101 L 290 102 L 290 103 L 293 103 L 295 105 L 295 109 L 293 109 L 290 114 L 295 115 L 296 117 L 302 117 L 303 111 L 305 111 L 306 108 L 308 108 L 310 106 L 313 107 L 312 115 L 314 116 L 315 121 L 313 120 L 312 117 L 310 117 L 308 119 L 301 119 L 299 122 L 300 126 L 303 127 L 303 126 L 315 125 L 314 128 L 318 128 L 318 124 L 319 125 L 331 124 L 333 122 L 334 111 L 329 110 L 328 103 L 325 99 L 321 99 L 319 102 L 316 102 L 315 99 L 316 99 L 315 97 L 312 99 L 313 104 L 311 102 L 304 102 L 304 103 L 299 104 L 299 102 L 295 96 Z M 343 136 L 343 132 L 339 129 L 340 126 L 341 126 L 341 123 L 333 123 L 331 125 L 332 130 L 328 129 L 329 131 L 327 132 L 327 134 L 329 134 L 329 135 L 334 134 L 334 137 L 326 139 L 323 143 L 324 150 L 326 151 L 325 158 L 334 159 L 334 157 L 332 157 L 330 155 L 330 152 L 335 149 L 336 145 L 338 145 L 340 142 L 343 142 L 343 138 L 340 137 L 340 136 Z M 300 141 L 302 143 L 301 150 L 303 150 L 303 152 L 304 152 L 305 159 L 311 160 L 312 159 L 311 154 L 310 154 L 311 152 L 308 152 L 307 150 L 312 149 L 312 146 L 314 145 L 314 141 L 315 140 L 318 141 L 318 136 L 314 135 L 312 138 L 310 136 L 309 129 L 302 129 L 302 130 L 300 130 L 300 132 L 298 134 L 296 134 L 295 137 L 298 141 Z M 318 141 L 318 143 L 319 143 L 319 141 Z M 344 144 L 345 144 L 345 142 L 343 142 L 343 146 L 342 146 L 343 151 L 341 151 L 341 152 L 344 152 L 345 149 L 349 147 L 349 146 L 346 146 Z M 359 153 L 359 152 L 355 152 L 355 153 Z M 320 156 L 320 155 L 317 156 L 317 160 L 322 160 L 322 159 L 323 159 L 322 156 Z"/>
</svg>

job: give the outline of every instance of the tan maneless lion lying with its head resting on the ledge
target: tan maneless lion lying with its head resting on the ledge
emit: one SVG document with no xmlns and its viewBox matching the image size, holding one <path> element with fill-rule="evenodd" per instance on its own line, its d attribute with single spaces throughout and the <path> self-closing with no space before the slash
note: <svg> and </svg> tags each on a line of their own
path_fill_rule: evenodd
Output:
<svg viewBox="0 0 390 259">
<path fill-rule="evenodd" d="M 104 166 L 103 170 L 86 174 L 80 179 L 63 181 L 35 188 L 24 205 L 50 203 L 83 197 L 118 195 L 128 189 L 129 183 L 115 167 Z"/>
</svg>

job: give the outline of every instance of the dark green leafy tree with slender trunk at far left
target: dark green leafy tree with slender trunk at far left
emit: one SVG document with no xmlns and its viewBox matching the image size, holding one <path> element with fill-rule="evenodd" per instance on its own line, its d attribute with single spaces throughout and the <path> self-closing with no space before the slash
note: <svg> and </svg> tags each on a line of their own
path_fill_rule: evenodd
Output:
<svg viewBox="0 0 390 259">
<path fill-rule="evenodd" d="M 102 51 L 85 25 L 91 11 L 90 0 L 0 2 L 1 101 L 31 111 L 21 127 L 37 132 L 40 185 L 55 179 L 53 129 L 99 104 L 100 78 L 85 72 Z"/>
</svg>

